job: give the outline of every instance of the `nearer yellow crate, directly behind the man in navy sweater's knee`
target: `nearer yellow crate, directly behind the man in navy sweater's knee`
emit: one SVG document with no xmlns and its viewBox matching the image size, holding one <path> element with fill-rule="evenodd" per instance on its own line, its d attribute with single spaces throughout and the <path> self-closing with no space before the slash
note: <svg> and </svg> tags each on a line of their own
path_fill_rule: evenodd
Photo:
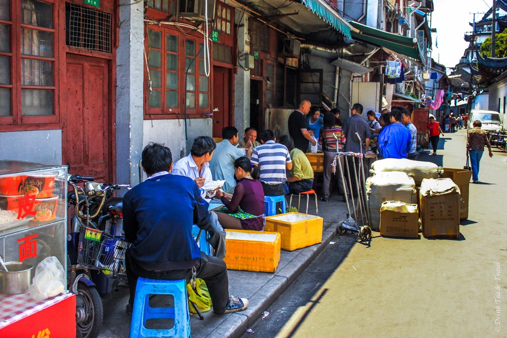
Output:
<svg viewBox="0 0 507 338">
<path fill-rule="evenodd" d="M 226 230 L 225 262 L 229 270 L 275 272 L 280 262 L 280 234 Z"/>
</svg>

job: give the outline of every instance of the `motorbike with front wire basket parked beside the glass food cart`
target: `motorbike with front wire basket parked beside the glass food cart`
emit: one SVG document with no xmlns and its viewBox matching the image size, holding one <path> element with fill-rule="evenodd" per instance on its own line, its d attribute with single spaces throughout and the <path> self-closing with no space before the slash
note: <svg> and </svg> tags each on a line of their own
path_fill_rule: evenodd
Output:
<svg viewBox="0 0 507 338">
<path fill-rule="evenodd" d="M 93 177 L 68 176 L 72 187 L 67 207 L 74 206 L 67 235 L 67 287 L 76 294 L 76 333 L 96 338 L 102 327 L 100 294 L 107 293 L 109 279 L 126 280 L 124 259 L 130 243 L 121 236 L 122 198 L 114 190 L 126 184 L 102 184 Z M 119 274 L 120 272 L 120 274 Z"/>
</svg>

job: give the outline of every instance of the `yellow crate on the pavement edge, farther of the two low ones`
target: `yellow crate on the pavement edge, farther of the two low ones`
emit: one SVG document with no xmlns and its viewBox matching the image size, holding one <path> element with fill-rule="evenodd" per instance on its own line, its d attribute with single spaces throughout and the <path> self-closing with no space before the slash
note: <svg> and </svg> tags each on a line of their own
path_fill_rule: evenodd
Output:
<svg viewBox="0 0 507 338">
<path fill-rule="evenodd" d="M 294 251 L 322 242 L 323 218 L 300 212 L 266 217 L 266 231 L 280 233 L 283 250 Z"/>
</svg>

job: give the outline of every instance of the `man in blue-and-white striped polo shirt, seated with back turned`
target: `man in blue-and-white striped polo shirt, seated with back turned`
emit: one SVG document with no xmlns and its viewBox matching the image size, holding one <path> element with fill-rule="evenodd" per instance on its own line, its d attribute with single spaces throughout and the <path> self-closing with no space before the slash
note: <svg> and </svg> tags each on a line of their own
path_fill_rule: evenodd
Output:
<svg viewBox="0 0 507 338">
<path fill-rule="evenodd" d="M 287 174 L 285 169 L 292 169 L 291 156 L 287 147 L 276 143 L 275 134 L 271 130 L 264 130 L 260 134 L 261 145 L 253 149 L 251 162 L 259 166 L 261 176 L 259 180 L 266 196 L 285 195 Z"/>
</svg>

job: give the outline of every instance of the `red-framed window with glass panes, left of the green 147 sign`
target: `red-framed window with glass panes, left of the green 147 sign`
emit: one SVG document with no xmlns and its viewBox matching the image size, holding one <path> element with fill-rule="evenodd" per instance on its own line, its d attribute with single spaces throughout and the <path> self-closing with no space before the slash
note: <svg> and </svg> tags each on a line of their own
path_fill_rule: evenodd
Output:
<svg viewBox="0 0 507 338">
<path fill-rule="evenodd" d="M 149 27 L 147 40 L 151 80 L 147 114 L 180 114 L 184 104 L 187 114 L 209 112 L 209 78 L 201 39 L 164 27 Z"/>
</svg>

